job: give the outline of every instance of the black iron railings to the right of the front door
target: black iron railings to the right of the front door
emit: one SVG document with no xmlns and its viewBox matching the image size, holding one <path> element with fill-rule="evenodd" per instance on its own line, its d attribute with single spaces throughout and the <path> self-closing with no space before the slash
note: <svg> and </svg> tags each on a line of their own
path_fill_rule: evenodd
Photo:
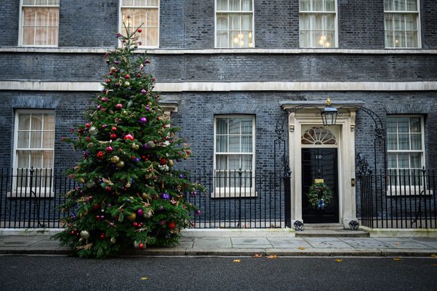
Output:
<svg viewBox="0 0 437 291">
<path fill-rule="evenodd" d="M 361 224 L 372 228 L 437 228 L 434 170 L 383 170 L 359 177 Z"/>
</svg>

